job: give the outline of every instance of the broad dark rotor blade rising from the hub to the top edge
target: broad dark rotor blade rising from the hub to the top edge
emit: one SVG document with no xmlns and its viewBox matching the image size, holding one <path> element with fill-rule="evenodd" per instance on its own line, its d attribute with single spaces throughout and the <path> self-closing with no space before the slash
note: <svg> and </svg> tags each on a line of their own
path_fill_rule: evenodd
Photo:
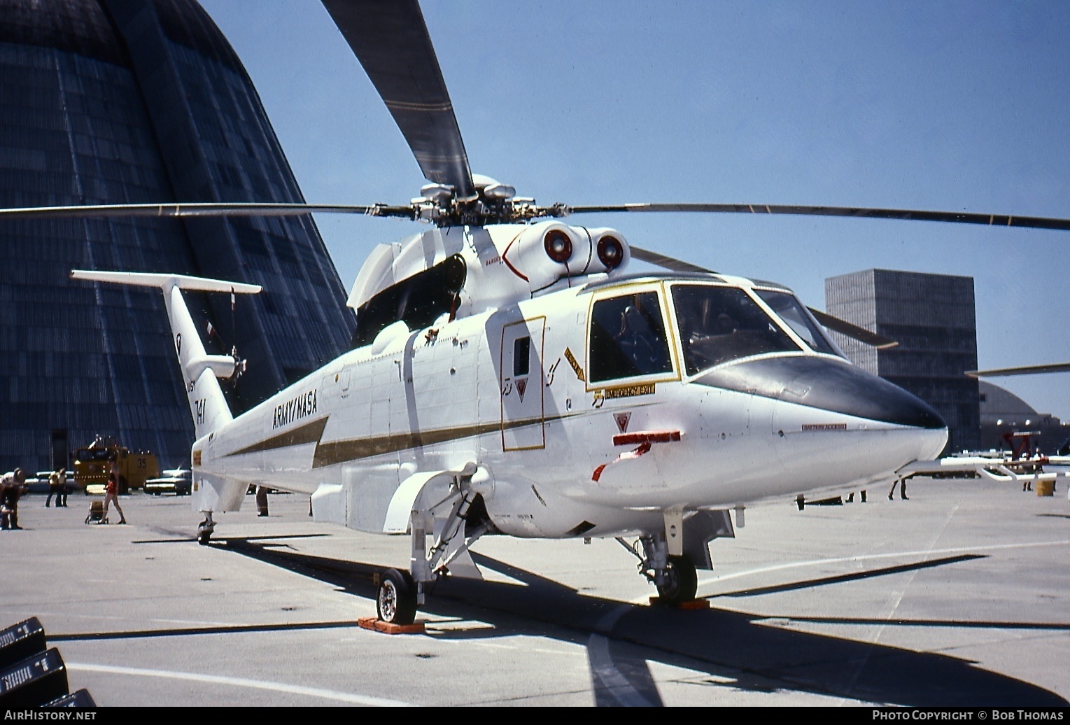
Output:
<svg viewBox="0 0 1070 725">
<path fill-rule="evenodd" d="M 476 198 L 464 142 L 416 0 L 323 0 L 379 91 L 421 171 Z"/>
</svg>

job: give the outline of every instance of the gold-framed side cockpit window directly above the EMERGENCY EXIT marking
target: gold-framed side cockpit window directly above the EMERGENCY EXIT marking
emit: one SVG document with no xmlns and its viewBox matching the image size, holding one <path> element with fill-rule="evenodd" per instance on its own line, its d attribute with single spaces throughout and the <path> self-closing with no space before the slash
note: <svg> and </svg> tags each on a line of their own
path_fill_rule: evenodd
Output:
<svg viewBox="0 0 1070 725">
<path fill-rule="evenodd" d="M 590 366 L 592 383 L 672 372 L 657 292 L 595 302 Z"/>
</svg>

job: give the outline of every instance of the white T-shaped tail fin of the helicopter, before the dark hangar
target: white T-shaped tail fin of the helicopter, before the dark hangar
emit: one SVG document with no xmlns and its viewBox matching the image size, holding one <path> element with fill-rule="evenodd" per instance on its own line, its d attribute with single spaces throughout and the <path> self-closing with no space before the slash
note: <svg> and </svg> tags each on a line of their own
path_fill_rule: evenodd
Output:
<svg viewBox="0 0 1070 725">
<path fill-rule="evenodd" d="M 171 323 L 174 352 L 179 356 L 179 365 L 182 367 L 185 380 L 189 414 L 194 419 L 196 438 L 200 439 L 232 420 L 230 406 L 227 405 L 218 379 L 229 379 L 233 375 L 239 362 L 230 355 L 209 355 L 204 351 L 204 344 L 197 333 L 193 318 L 189 317 L 182 290 L 256 294 L 261 290 L 259 284 L 227 282 L 186 275 L 82 269 L 72 272 L 71 278 L 136 287 L 154 287 L 163 291 L 167 317 Z"/>
</svg>

